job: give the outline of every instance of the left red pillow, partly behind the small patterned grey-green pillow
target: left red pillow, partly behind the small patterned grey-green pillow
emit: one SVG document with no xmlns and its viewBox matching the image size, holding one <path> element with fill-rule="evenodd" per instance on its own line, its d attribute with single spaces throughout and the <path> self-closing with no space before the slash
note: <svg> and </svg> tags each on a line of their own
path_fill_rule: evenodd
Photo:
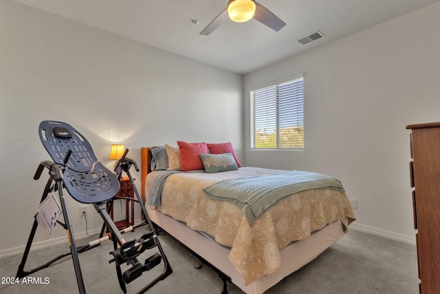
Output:
<svg viewBox="0 0 440 294">
<path fill-rule="evenodd" d="M 186 143 L 177 141 L 180 151 L 181 171 L 192 171 L 203 169 L 199 154 L 208 154 L 206 143 Z"/>
</svg>

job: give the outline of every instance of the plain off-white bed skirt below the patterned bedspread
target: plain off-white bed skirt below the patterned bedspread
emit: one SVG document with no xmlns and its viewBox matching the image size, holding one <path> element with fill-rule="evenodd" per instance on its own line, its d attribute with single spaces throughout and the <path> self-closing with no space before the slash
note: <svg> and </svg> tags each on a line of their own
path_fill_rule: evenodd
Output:
<svg viewBox="0 0 440 294">
<path fill-rule="evenodd" d="M 297 271 L 305 264 L 314 260 L 320 253 L 329 248 L 344 235 L 344 229 L 340 220 L 332 222 L 324 229 L 314 233 L 309 238 L 294 242 L 280 251 L 283 264 L 280 269 L 261 277 L 245 286 L 245 280 L 235 269 L 229 260 L 230 250 L 217 244 L 213 240 L 206 238 L 197 231 L 186 227 L 185 224 L 166 216 L 160 211 L 152 209 L 146 205 L 148 216 L 151 220 L 162 227 L 165 231 L 173 235 L 185 246 L 200 255 L 203 259 L 210 262 L 220 271 L 228 275 L 232 283 L 241 288 L 247 294 L 261 294 L 268 288 L 283 280 L 284 277 Z"/>
</svg>

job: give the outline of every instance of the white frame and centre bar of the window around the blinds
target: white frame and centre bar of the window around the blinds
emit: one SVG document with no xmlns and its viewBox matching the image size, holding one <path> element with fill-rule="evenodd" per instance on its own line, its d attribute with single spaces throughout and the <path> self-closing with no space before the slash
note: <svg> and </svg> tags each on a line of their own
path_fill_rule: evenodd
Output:
<svg viewBox="0 0 440 294">
<path fill-rule="evenodd" d="M 280 84 L 283 83 L 289 83 L 294 82 L 298 79 L 303 80 L 303 92 L 302 92 L 302 127 L 303 128 L 303 146 L 302 147 L 280 147 L 280 124 L 279 124 L 279 118 L 280 118 L 280 109 L 279 109 L 279 100 L 280 97 L 278 96 L 278 92 L 276 93 L 276 147 L 255 147 L 256 142 L 256 130 L 255 130 L 255 114 L 254 114 L 254 96 L 253 92 L 257 90 L 263 90 L 267 87 L 276 87 L 278 88 Z M 295 76 L 288 76 L 286 78 L 282 78 L 277 81 L 272 81 L 270 83 L 265 83 L 263 85 L 259 85 L 256 87 L 250 88 L 250 149 L 251 150 L 296 150 L 296 151 L 303 151 L 305 148 L 305 126 L 304 126 L 304 74 L 296 74 Z"/>
</svg>

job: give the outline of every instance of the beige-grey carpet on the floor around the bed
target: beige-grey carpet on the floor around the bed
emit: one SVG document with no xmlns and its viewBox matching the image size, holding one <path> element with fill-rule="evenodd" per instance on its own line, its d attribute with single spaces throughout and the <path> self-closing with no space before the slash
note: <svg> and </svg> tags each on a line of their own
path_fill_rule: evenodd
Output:
<svg viewBox="0 0 440 294">
<path fill-rule="evenodd" d="M 125 236 L 126 240 L 140 237 L 142 231 L 143 228 L 137 229 L 133 237 Z M 29 232 L 23 233 L 27 235 Z M 221 293 L 223 283 L 217 273 L 208 266 L 195 269 L 197 259 L 193 255 L 166 235 L 161 235 L 160 240 L 174 272 L 147 293 Z M 84 242 L 78 241 L 78 244 Z M 80 253 L 80 265 L 87 293 L 122 293 L 115 266 L 108 262 L 112 246 L 111 242 L 105 242 L 95 249 Z M 67 245 L 31 251 L 25 270 L 47 262 L 52 256 L 65 251 L 69 251 Z M 148 258 L 153 253 L 155 252 L 143 253 L 141 256 Z M 21 255 L 0 259 L 2 282 L 5 282 L 3 277 L 16 275 L 20 261 Z M 160 264 L 152 271 L 145 272 L 142 277 L 127 285 L 128 293 L 136 293 L 148 280 L 157 277 L 162 269 Z M 31 276 L 43 283 L 1 283 L 0 293 L 78 293 L 70 257 Z M 289 275 L 266 293 L 413 294 L 418 293 L 418 283 L 415 246 L 349 229 L 347 235 L 316 260 Z M 232 284 L 228 284 L 228 291 L 230 294 L 243 293 Z"/>
</svg>

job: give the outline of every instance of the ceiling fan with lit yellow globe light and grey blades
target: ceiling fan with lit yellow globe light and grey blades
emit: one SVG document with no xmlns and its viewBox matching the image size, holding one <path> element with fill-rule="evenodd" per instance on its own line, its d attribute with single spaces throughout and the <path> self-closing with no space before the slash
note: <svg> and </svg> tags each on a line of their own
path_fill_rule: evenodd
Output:
<svg viewBox="0 0 440 294">
<path fill-rule="evenodd" d="M 229 0 L 228 6 L 225 10 L 217 15 L 217 17 L 212 20 L 210 24 L 200 32 L 200 34 L 207 36 L 228 18 L 237 23 L 243 23 L 254 18 L 276 32 L 286 25 L 284 21 L 279 19 L 261 4 L 256 3 L 255 0 Z"/>
</svg>

